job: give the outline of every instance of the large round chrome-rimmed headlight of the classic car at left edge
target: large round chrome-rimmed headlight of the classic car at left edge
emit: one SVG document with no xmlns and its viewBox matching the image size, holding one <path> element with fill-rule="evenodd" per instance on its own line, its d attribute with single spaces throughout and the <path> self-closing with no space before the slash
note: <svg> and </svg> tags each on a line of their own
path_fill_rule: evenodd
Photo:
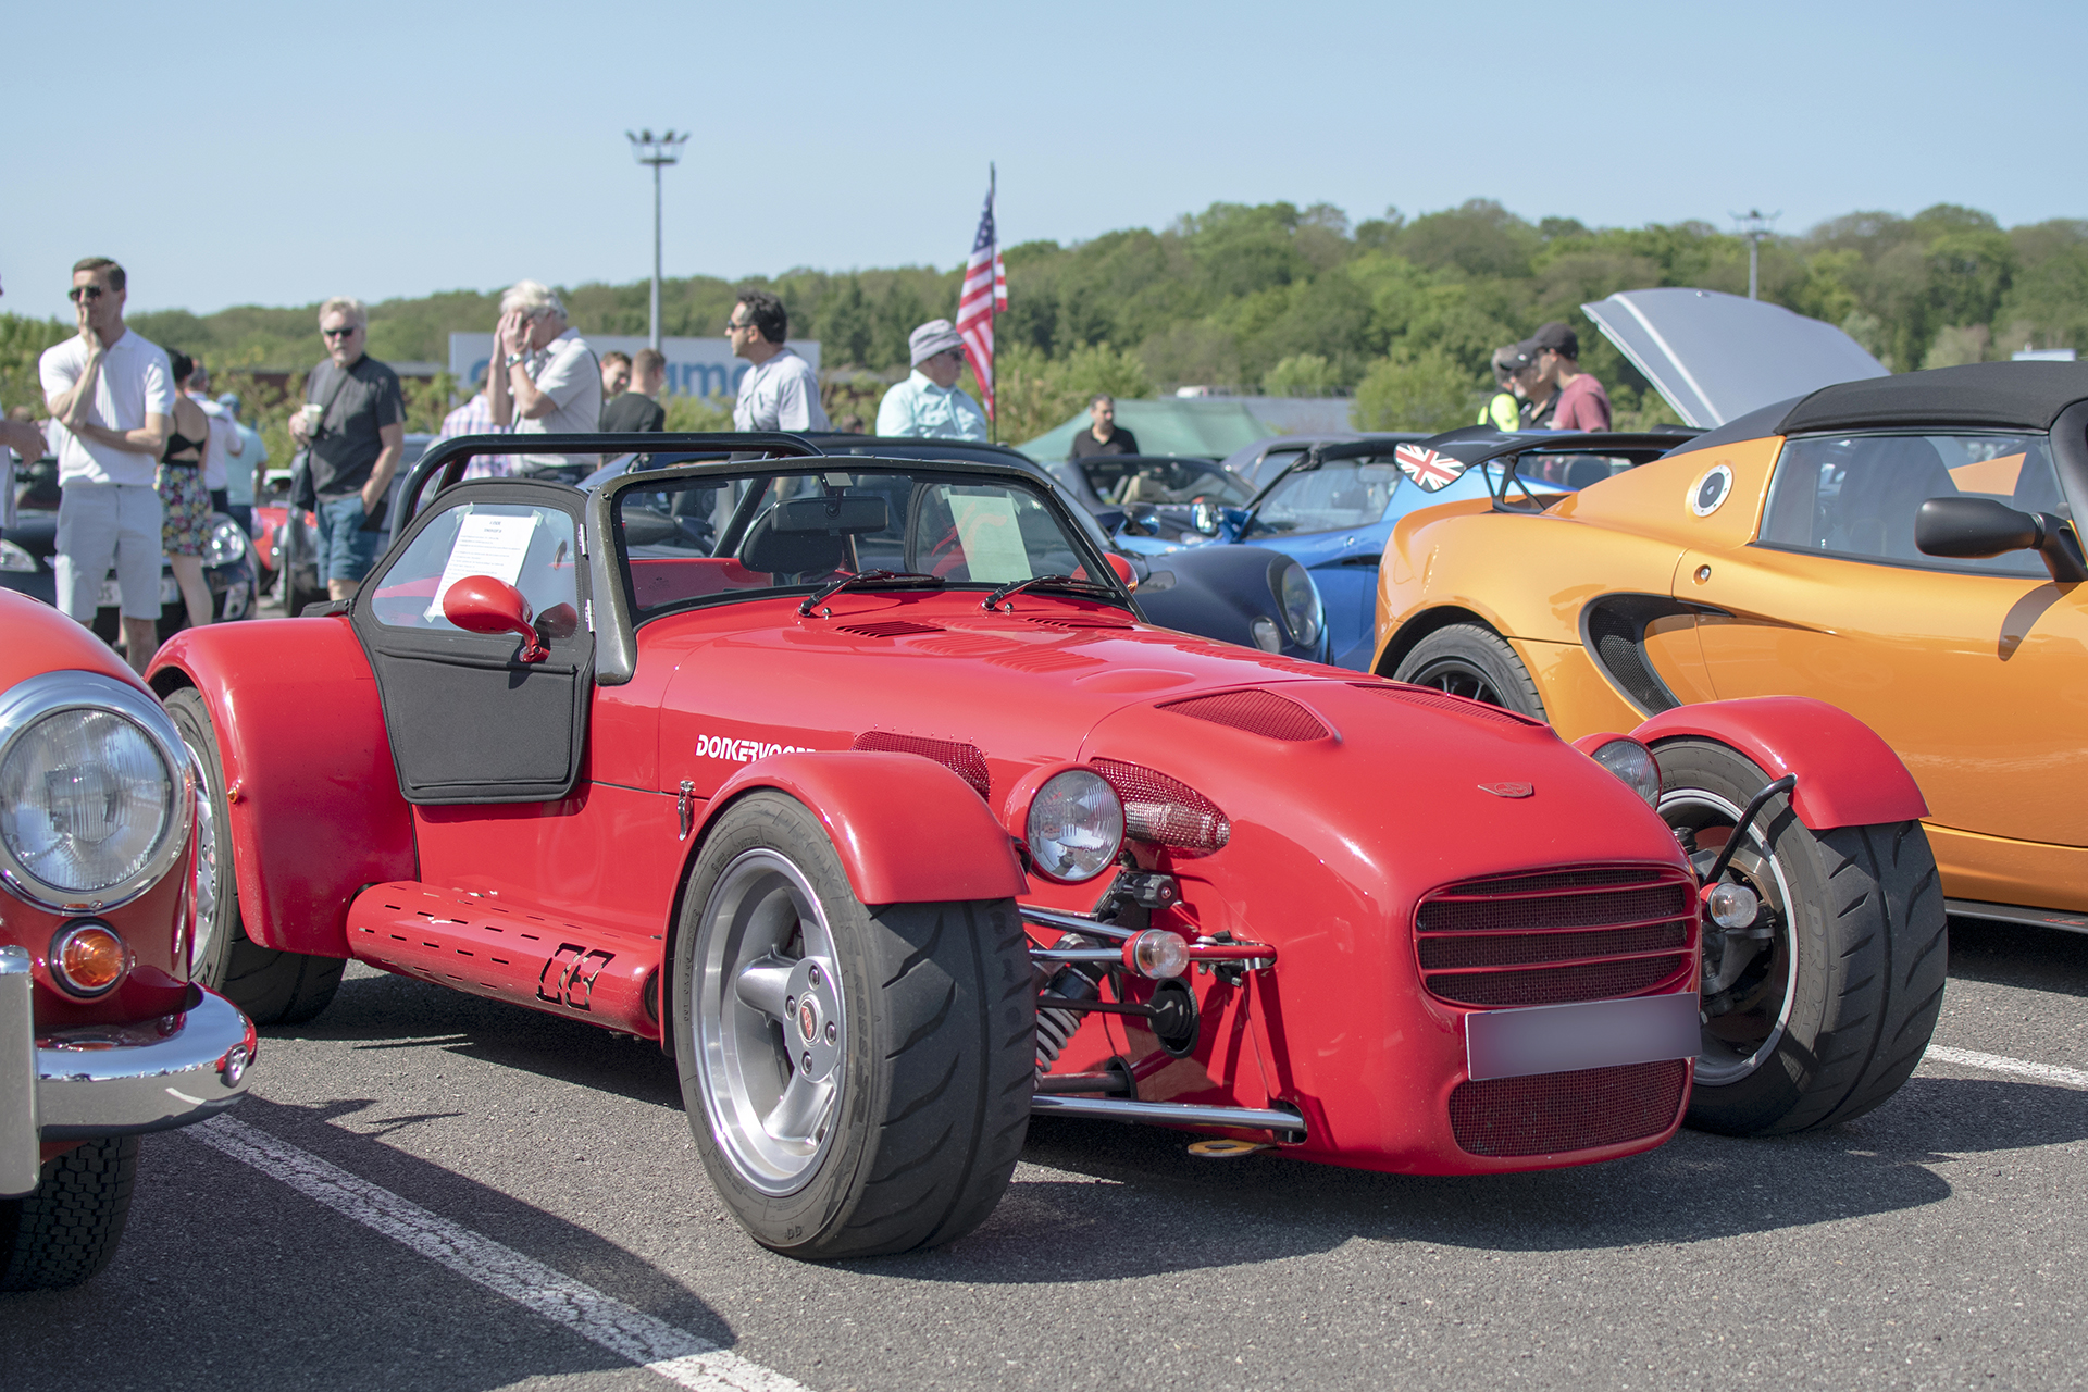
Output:
<svg viewBox="0 0 2088 1392">
<path fill-rule="evenodd" d="M 109 910 L 188 845 L 192 774 L 165 707 L 98 672 L 0 695 L 0 883 L 56 910 Z"/>
</svg>

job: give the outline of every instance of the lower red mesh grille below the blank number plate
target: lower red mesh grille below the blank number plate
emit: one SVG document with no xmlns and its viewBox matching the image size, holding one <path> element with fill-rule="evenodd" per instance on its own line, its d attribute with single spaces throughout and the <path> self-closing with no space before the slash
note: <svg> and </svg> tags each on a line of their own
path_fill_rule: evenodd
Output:
<svg viewBox="0 0 2088 1392">
<path fill-rule="evenodd" d="M 1689 1081 L 1681 1058 L 1460 1083 L 1449 1127 L 1476 1156 L 1543 1156 L 1660 1135 Z"/>
</svg>

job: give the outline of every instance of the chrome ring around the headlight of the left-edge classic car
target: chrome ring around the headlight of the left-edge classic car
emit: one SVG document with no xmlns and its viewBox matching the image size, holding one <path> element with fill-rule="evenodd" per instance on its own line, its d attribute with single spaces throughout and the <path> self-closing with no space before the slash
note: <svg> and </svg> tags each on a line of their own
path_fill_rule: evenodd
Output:
<svg viewBox="0 0 2088 1392">
<path fill-rule="evenodd" d="M 106 912 L 148 891 L 182 858 L 196 818 L 196 768 L 165 705 L 113 676 L 77 670 L 44 672 L 0 695 L 0 768 L 6 768 L 17 741 L 40 720 L 69 710 L 115 716 L 146 737 L 169 785 L 167 816 L 138 868 L 98 889 L 65 889 L 42 881 L 21 864 L 0 831 L 0 885 L 25 904 L 61 914 Z"/>
</svg>

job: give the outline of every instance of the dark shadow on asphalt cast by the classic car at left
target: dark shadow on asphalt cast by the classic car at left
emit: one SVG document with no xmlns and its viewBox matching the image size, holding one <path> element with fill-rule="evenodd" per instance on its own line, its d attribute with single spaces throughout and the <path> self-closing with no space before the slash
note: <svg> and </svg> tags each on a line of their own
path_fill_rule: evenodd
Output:
<svg viewBox="0 0 2088 1392">
<path fill-rule="evenodd" d="M 234 1117 L 679 1329 L 735 1342 L 710 1304 L 643 1256 L 332 1125 L 359 1106 L 378 1104 L 251 1096 Z M 570 1373 L 656 1386 L 618 1354 L 182 1133 L 146 1137 L 109 1271 L 73 1290 L 0 1296 L 0 1369 L 8 1392 L 487 1392 Z"/>
</svg>

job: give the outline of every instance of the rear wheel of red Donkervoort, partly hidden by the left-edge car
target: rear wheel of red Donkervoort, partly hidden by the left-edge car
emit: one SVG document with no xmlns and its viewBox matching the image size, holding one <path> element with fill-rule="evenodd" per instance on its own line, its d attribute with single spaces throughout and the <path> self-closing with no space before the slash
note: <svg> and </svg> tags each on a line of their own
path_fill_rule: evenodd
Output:
<svg viewBox="0 0 2088 1392">
<path fill-rule="evenodd" d="M 182 743 L 203 768 L 205 797 L 196 810 L 196 945 L 194 981 L 226 995 L 255 1025 L 303 1025 L 340 989 L 342 958 L 278 952 L 246 937 L 238 877 L 232 872 L 232 818 L 217 728 L 203 695 L 184 687 L 167 697 Z"/>
</svg>

